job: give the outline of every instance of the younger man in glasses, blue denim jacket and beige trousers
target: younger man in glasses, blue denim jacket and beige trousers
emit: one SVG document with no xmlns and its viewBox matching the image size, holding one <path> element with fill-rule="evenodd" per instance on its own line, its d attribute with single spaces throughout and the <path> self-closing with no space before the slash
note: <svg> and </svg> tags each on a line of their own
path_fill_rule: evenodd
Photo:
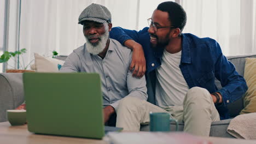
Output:
<svg viewBox="0 0 256 144">
<path fill-rule="evenodd" d="M 121 100 L 117 127 L 137 131 L 140 124 L 149 122 L 150 111 L 168 112 L 184 122 L 184 131 L 208 136 L 212 122 L 229 118 L 226 105 L 247 91 L 245 80 L 223 56 L 217 41 L 182 33 L 186 20 L 181 5 L 164 2 L 148 19 L 149 28 L 136 32 L 117 27 L 110 32 L 110 37 L 133 52 L 144 52 L 148 101 L 155 99 L 156 104 L 136 98 Z M 141 76 L 143 67 L 135 67 Z M 223 88 L 217 89 L 215 77 Z"/>
</svg>

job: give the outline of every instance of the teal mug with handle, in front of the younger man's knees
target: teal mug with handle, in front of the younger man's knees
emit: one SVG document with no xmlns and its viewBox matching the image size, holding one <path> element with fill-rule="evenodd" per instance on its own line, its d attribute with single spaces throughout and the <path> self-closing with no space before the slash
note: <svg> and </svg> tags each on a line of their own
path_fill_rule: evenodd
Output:
<svg viewBox="0 0 256 144">
<path fill-rule="evenodd" d="M 179 124 L 176 119 L 170 118 L 170 114 L 166 112 L 149 113 L 150 131 L 170 131 L 170 122 L 176 123 L 176 131 L 179 129 Z"/>
</svg>

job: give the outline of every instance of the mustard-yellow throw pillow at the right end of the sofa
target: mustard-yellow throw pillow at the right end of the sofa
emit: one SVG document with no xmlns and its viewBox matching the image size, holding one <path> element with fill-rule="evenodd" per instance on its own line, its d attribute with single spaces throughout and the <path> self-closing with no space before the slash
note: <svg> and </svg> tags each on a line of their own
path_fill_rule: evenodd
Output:
<svg viewBox="0 0 256 144">
<path fill-rule="evenodd" d="M 256 112 L 256 58 L 246 58 L 244 77 L 248 90 L 243 98 L 245 108 L 240 114 Z"/>
</svg>

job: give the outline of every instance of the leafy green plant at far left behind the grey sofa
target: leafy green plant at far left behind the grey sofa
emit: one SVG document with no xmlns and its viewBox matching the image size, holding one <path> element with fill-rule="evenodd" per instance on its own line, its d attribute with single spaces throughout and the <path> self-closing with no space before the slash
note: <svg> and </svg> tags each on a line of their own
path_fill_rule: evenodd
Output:
<svg viewBox="0 0 256 144">
<path fill-rule="evenodd" d="M 15 51 L 15 52 L 8 52 L 8 51 L 4 51 L 3 55 L 1 55 L 0 57 L 0 63 L 7 63 L 10 59 L 13 59 L 15 61 L 15 57 L 22 55 L 24 53 L 26 53 L 26 49 L 21 49 L 19 51 Z M 22 58 L 22 56 L 21 56 Z M 21 69 L 16 69 L 13 66 L 9 65 L 9 67 L 13 68 L 13 69 L 7 69 L 6 72 L 7 73 L 24 73 L 25 71 L 30 71 L 32 72 L 33 70 L 27 70 L 28 66 L 32 63 L 33 61 L 31 61 L 30 63 L 28 63 L 27 65 L 25 65 L 24 61 L 23 63 L 21 63 L 20 61 L 18 61 L 18 65 L 20 66 Z"/>
</svg>

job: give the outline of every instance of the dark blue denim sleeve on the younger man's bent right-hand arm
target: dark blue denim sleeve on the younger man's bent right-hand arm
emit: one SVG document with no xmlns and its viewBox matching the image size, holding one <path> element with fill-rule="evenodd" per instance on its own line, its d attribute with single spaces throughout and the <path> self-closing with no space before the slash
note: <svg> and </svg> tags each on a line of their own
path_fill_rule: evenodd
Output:
<svg viewBox="0 0 256 144">
<path fill-rule="evenodd" d="M 223 55 L 219 44 L 215 40 L 213 48 L 215 54 L 213 58 L 216 60 L 214 65 L 215 76 L 223 87 L 217 91 L 222 94 L 223 97 L 223 104 L 219 105 L 219 107 L 222 107 L 241 98 L 247 91 L 248 87 L 245 79 L 237 73 L 234 64 L 229 62 Z"/>
</svg>

